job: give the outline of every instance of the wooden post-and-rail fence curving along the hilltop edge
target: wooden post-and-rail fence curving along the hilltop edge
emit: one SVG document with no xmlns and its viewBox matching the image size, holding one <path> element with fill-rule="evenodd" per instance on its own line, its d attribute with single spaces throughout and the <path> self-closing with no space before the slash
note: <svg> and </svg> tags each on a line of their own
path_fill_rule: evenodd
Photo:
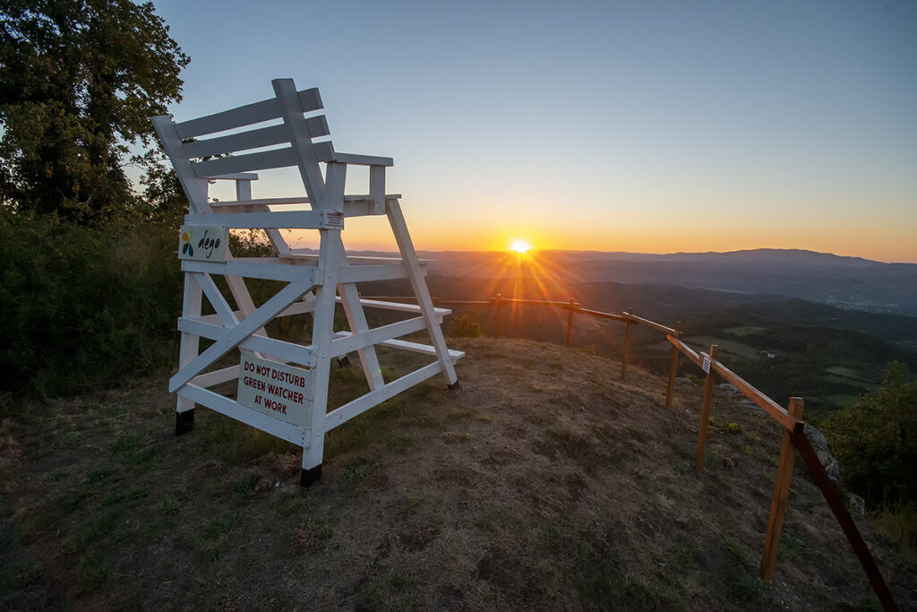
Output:
<svg viewBox="0 0 917 612">
<path fill-rule="evenodd" d="M 405 297 L 368 297 L 365 299 L 413 299 Z M 720 376 L 724 381 L 732 384 L 739 393 L 745 395 L 748 399 L 759 406 L 768 417 L 774 419 L 784 429 L 783 441 L 780 448 L 780 459 L 777 466 L 777 477 L 774 483 L 774 495 L 771 498 L 770 515 L 768 516 L 768 532 L 765 536 L 764 551 L 761 555 L 761 577 L 770 582 L 774 577 L 774 571 L 777 563 L 777 553 L 779 550 L 780 531 L 783 527 L 783 518 L 787 510 L 788 497 L 790 495 L 790 480 L 792 479 L 793 463 L 796 458 L 796 451 L 809 468 L 816 486 L 822 492 L 825 501 L 831 508 L 834 517 L 844 531 L 847 541 L 850 543 L 856 553 L 856 558 L 866 573 L 869 584 L 872 585 L 873 591 L 878 596 L 878 600 L 885 610 L 898 610 L 898 605 L 891 595 L 888 584 L 878 570 L 875 559 L 867 548 L 866 542 L 856 528 L 856 523 L 850 515 L 850 511 L 844 504 L 840 495 L 832 482 L 831 478 L 824 470 L 822 462 L 812 450 L 812 444 L 805 435 L 805 421 L 802 420 L 803 401 L 801 397 L 791 397 L 790 404 L 784 408 L 773 399 L 759 391 L 754 385 L 748 383 L 744 378 L 727 368 L 724 363 L 717 358 L 719 347 L 712 345 L 709 352 L 698 352 L 691 349 L 682 339 L 681 321 L 676 322 L 674 328 L 661 325 L 656 321 L 645 317 L 637 317 L 634 314 L 634 308 L 628 308 L 626 311 L 617 314 L 602 312 L 583 308 L 582 305 L 574 298 L 569 298 L 566 302 L 551 300 L 531 300 L 506 298 L 497 294 L 489 300 L 476 301 L 457 301 L 441 300 L 433 298 L 437 306 L 492 306 L 495 317 L 495 336 L 500 338 L 500 309 L 503 306 L 511 304 L 521 304 L 529 306 L 553 306 L 568 310 L 567 317 L 567 347 L 572 345 L 573 316 L 574 314 L 596 317 L 605 320 L 623 322 L 627 327 L 624 332 L 624 350 L 621 360 L 621 378 L 627 376 L 627 366 L 630 356 L 631 328 L 634 325 L 651 328 L 666 334 L 666 339 L 671 343 L 671 355 L 669 359 L 668 381 L 666 389 L 666 407 L 671 407 L 675 394 L 675 382 L 678 372 L 679 356 L 684 355 L 689 361 L 694 363 L 706 373 L 706 379 L 703 387 L 703 400 L 701 406 L 700 421 L 698 424 L 698 441 L 697 451 L 694 463 L 694 472 L 701 473 L 703 470 L 704 449 L 707 440 L 707 428 L 710 421 L 710 409 L 713 404 L 713 385 L 716 376 Z"/>
</svg>

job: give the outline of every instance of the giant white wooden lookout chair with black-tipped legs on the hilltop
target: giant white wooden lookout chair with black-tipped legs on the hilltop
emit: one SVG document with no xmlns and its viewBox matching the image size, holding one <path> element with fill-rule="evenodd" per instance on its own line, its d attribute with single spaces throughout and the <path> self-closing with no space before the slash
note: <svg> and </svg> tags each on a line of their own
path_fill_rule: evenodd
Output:
<svg viewBox="0 0 917 612">
<path fill-rule="evenodd" d="M 307 486 L 321 477 L 325 434 L 330 429 L 437 373 L 442 373 L 449 387 L 455 388 L 458 379 L 454 363 L 464 353 L 447 349 L 440 324 L 449 311 L 435 308 L 430 299 L 425 261 L 419 261 L 414 251 L 398 202 L 401 196 L 385 195 L 385 169 L 392 165 L 392 159 L 338 153 L 325 138 L 329 134 L 326 118 L 315 115 L 322 108 L 318 90 L 297 92 L 292 79 L 271 83 L 274 97 L 255 104 L 181 123 L 173 123 L 165 116 L 151 119 L 188 196 L 190 211 L 183 229 L 187 233 L 195 227 L 220 228 L 224 232 L 226 228 L 263 229 L 279 254 L 270 258 L 233 258 L 226 253 L 225 261 L 182 260 L 184 298 L 178 324 L 182 332 L 181 358 L 169 389 L 178 394 L 176 434 L 193 428 L 195 405 L 206 406 L 302 447 L 301 483 Z M 268 127 L 249 128 L 271 120 L 273 125 Z M 244 128 L 249 129 L 240 131 Z M 263 150 L 268 147 L 274 148 Z M 239 152 L 256 149 L 260 151 Z M 345 195 L 347 169 L 354 164 L 369 166 L 369 195 Z M 251 181 L 258 178 L 253 171 L 290 166 L 299 169 L 307 197 L 252 199 Z M 208 202 L 208 184 L 219 179 L 236 181 L 236 201 Z M 367 215 L 388 217 L 400 258 L 347 255 L 341 240 L 345 219 Z M 291 249 L 282 238 L 281 228 L 317 230 L 318 255 Z M 236 308 L 217 289 L 214 275 L 224 276 Z M 244 278 L 287 284 L 256 307 Z M 400 278 L 409 280 L 416 305 L 359 297 L 359 282 Z M 215 315 L 202 316 L 202 295 L 213 306 Z M 343 306 L 349 331 L 334 331 L 337 302 Z M 417 316 L 369 328 L 364 306 L 413 312 Z M 306 312 L 313 313 L 311 344 L 268 337 L 264 326 L 271 319 Z M 424 329 L 429 344 L 398 339 Z M 214 342 L 200 351 L 200 338 Z M 378 345 L 425 353 L 436 359 L 386 382 L 375 351 Z M 217 360 L 236 349 L 241 351 L 242 365 L 217 369 Z M 328 412 L 331 362 L 352 351 L 359 351 L 369 390 Z M 293 372 L 305 373 L 305 384 L 299 385 L 304 397 L 296 397 L 302 400 L 298 415 L 283 416 L 271 409 L 239 403 L 245 376 L 240 369 L 254 367 L 250 362 L 265 363 L 257 361 L 262 359 L 275 364 L 273 371 L 289 368 L 282 365 L 287 363 L 299 366 Z M 239 396 L 235 399 L 212 389 L 236 379 Z M 295 380 L 303 383 L 299 378 Z"/>
</svg>

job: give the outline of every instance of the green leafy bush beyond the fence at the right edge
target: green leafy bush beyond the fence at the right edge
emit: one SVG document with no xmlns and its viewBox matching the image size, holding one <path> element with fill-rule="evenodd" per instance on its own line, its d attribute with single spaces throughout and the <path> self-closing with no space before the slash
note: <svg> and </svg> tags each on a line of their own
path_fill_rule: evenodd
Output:
<svg viewBox="0 0 917 612">
<path fill-rule="evenodd" d="M 824 423 L 851 489 L 875 504 L 917 501 L 917 382 L 891 362 L 885 383 Z"/>
</svg>

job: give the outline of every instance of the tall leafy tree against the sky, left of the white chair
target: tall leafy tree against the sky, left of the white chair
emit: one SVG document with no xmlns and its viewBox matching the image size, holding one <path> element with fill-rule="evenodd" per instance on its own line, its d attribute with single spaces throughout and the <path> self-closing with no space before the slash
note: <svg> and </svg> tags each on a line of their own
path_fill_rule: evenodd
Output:
<svg viewBox="0 0 917 612">
<path fill-rule="evenodd" d="M 131 206 L 128 145 L 181 100 L 188 61 L 149 2 L 0 0 L 0 206 L 79 222 Z"/>
</svg>

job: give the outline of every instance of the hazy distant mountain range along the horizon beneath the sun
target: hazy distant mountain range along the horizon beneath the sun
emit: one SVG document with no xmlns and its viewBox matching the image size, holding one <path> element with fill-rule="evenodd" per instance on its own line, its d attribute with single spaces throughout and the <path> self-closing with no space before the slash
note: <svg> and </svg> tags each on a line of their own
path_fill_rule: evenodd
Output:
<svg viewBox="0 0 917 612">
<path fill-rule="evenodd" d="M 653 255 L 541 250 L 424 251 L 431 272 L 476 278 L 540 278 L 557 287 L 614 282 L 786 295 L 848 309 L 917 316 L 917 264 L 811 250 L 757 249 Z"/>
</svg>

